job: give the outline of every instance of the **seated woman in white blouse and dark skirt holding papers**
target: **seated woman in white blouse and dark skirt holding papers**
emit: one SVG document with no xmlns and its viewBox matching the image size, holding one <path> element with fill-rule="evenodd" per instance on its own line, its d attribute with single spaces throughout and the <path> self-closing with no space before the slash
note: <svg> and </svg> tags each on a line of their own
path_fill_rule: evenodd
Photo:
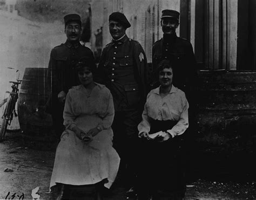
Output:
<svg viewBox="0 0 256 200">
<path fill-rule="evenodd" d="M 182 199 L 185 195 L 181 135 L 188 128 L 185 93 L 172 85 L 169 60 L 159 63 L 160 86 L 147 95 L 138 125 L 140 149 L 139 199 Z"/>
</svg>

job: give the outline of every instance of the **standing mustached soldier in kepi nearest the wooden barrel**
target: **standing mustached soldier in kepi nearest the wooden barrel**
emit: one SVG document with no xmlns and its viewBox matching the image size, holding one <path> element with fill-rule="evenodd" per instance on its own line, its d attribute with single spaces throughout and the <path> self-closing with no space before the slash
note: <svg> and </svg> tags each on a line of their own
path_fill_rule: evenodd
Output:
<svg viewBox="0 0 256 200">
<path fill-rule="evenodd" d="M 94 60 L 92 51 L 80 44 L 82 34 L 81 18 L 77 14 L 64 17 L 65 34 L 64 44 L 54 47 L 48 66 L 48 81 L 51 86 L 51 115 L 55 134 L 59 138 L 64 130 L 63 109 L 66 94 L 72 86 L 79 85 L 75 66 L 83 57 Z"/>
</svg>

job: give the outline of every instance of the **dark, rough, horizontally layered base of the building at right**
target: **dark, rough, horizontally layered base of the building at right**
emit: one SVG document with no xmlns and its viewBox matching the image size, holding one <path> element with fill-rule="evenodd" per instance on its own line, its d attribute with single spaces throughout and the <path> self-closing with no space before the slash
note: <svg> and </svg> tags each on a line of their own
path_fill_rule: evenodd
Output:
<svg viewBox="0 0 256 200">
<path fill-rule="evenodd" d="M 200 72 L 199 82 L 197 147 L 201 151 L 194 161 L 198 170 L 207 168 L 207 163 L 207 173 L 213 175 L 254 171 L 256 72 Z"/>
</svg>

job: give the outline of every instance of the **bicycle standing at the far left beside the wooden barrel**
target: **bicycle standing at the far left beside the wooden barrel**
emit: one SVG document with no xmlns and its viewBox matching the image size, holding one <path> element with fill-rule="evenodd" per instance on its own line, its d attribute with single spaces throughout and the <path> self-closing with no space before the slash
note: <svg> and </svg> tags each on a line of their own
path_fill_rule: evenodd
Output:
<svg viewBox="0 0 256 200">
<path fill-rule="evenodd" d="M 12 83 L 12 91 L 6 91 L 6 93 L 9 93 L 9 98 L 7 100 L 7 104 L 4 108 L 4 113 L 2 116 L 2 126 L 1 126 L 1 133 L 0 133 L 0 142 L 4 140 L 4 136 L 6 133 L 7 126 L 11 124 L 12 119 L 14 118 L 14 115 L 17 117 L 17 113 L 15 111 L 16 102 L 18 100 L 18 93 L 19 93 L 19 84 L 21 84 L 22 80 L 16 81 L 9 81 Z"/>
</svg>

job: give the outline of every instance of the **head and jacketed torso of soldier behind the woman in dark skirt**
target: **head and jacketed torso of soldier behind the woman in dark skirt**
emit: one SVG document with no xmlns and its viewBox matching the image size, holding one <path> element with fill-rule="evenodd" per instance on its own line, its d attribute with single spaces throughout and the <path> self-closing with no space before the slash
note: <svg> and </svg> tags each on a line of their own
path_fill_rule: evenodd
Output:
<svg viewBox="0 0 256 200">
<path fill-rule="evenodd" d="M 153 72 L 161 60 L 170 60 L 173 65 L 173 85 L 188 95 L 190 86 L 196 81 L 197 69 L 191 43 L 177 37 L 176 29 L 179 26 L 179 12 L 175 10 L 163 10 L 161 15 L 161 27 L 163 38 L 153 44 L 152 65 Z M 154 73 L 152 73 L 154 74 Z M 156 73 L 155 73 L 156 74 Z M 160 85 L 157 77 L 151 77 L 151 87 Z"/>
</svg>

